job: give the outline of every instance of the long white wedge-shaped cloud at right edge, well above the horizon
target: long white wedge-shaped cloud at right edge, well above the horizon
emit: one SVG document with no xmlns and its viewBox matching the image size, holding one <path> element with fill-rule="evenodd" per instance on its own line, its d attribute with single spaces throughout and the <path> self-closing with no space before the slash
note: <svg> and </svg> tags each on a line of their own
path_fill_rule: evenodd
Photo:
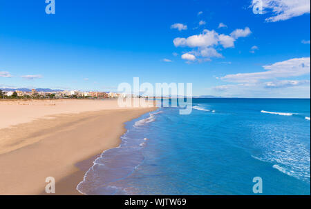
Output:
<svg viewBox="0 0 311 209">
<path fill-rule="evenodd" d="M 256 83 L 263 79 L 276 79 L 286 77 L 298 77 L 310 73 L 310 57 L 289 59 L 274 63 L 270 66 L 263 66 L 266 71 L 227 74 L 222 77 L 224 81 L 238 83 Z"/>
</svg>

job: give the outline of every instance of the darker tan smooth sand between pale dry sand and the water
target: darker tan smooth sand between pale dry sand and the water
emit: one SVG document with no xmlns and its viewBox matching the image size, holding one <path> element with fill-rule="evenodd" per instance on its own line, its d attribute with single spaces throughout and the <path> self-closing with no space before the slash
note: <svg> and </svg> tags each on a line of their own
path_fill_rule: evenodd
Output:
<svg viewBox="0 0 311 209">
<path fill-rule="evenodd" d="M 59 114 L 0 129 L 0 167 L 5 168 L 0 195 L 51 195 L 45 192 L 46 177 L 55 177 L 53 195 L 82 195 L 77 184 L 104 150 L 120 145 L 124 123 L 153 110 Z"/>
</svg>

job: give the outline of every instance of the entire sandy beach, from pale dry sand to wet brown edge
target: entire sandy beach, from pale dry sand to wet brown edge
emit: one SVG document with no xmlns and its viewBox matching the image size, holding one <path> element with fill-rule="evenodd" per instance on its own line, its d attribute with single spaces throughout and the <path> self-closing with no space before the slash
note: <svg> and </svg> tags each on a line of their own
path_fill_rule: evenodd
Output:
<svg viewBox="0 0 311 209">
<path fill-rule="evenodd" d="M 124 122 L 156 110 L 120 108 L 116 100 L 0 101 L 0 195 L 80 195 L 84 173 L 119 145 Z"/>
</svg>

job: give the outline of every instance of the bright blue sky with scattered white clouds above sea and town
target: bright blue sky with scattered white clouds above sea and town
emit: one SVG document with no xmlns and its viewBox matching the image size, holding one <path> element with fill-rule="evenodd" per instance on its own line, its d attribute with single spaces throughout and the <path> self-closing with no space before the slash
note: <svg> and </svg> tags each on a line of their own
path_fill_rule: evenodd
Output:
<svg viewBox="0 0 311 209">
<path fill-rule="evenodd" d="M 46 5 L 0 0 L 0 88 L 114 91 L 140 77 L 191 82 L 194 95 L 310 98 L 310 0 L 263 0 L 263 14 L 249 0 Z"/>
</svg>

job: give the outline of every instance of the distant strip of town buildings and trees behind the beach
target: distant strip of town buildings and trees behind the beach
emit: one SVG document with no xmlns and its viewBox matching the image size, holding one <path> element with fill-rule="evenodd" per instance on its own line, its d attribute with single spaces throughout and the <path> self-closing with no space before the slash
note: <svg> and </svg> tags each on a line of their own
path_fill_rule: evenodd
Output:
<svg viewBox="0 0 311 209">
<path fill-rule="evenodd" d="M 119 98 L 138 97 L 133 94 L 116 92 L 82 92 L 79 90 L 59 90 L 59 91 L 38 91 L 36 89 L 21 90 L 0 90 L 0 99 L 87 99 L 87 98 Z"/>
</svg>

